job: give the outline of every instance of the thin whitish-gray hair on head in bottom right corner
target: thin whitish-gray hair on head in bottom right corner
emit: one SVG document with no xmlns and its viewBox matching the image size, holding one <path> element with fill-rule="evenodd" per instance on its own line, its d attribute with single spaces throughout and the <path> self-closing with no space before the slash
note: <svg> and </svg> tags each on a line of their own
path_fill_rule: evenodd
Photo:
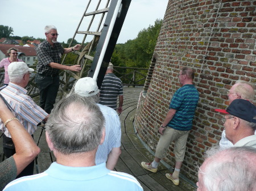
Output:
<svg viewBox="0 0 256 191">
<path fill-rule="evenodd" d="M 256 188 L 256 148 L 231 147 L 207 152 L 203 183 L 208 191 L 253 191 Z"/>
</svg>

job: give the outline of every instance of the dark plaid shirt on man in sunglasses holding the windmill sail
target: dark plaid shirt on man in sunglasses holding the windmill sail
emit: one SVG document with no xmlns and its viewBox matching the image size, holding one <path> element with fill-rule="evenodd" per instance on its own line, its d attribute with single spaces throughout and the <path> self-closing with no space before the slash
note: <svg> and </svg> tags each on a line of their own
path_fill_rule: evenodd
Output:
<svg viewBox="0 0 256 191">
<path fill-rule="evenodd" d="M 60 63 L 61 56 L 64 53 L 64 48 L 60 43 L 55 43 L 52 47 L 48 41 L 43 41 L 36 48 L 36 54 L 38 56 L 38 65 L 36 65 L 36 72 L 44 75 L 57 75 L 59 69 L 53 69 L 49 66 L 49 63 Z"/>
</svg>

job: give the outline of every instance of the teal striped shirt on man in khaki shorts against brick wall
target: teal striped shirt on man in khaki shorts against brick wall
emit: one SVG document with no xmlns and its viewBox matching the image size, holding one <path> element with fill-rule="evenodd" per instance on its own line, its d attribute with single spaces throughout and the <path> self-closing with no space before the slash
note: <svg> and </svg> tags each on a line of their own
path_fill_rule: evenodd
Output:
<svg viewBox="0 0 256 191">
<path fill-rule="evenodd" d="M 191 130 L 198 101 L 199 92 L 195 86 L 185 84 L 179 88 L 172 97 L 169 107 L 170 109 L 176 109 L 176 113 L 167 126 L 176 130 Z"/>
</svg>

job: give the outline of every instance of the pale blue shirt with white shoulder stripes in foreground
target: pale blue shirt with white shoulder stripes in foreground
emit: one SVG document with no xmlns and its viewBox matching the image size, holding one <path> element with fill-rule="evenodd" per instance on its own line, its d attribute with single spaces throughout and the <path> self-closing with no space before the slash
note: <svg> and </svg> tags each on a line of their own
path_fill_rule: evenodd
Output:
<svg viewBox="0 0 256 191">
<path fill-rule="evenodd" d="M 110 171 L 106 168 L 106 163 L 92 167 L 68 167 L 54 162 L 43 173 L 24 176 L 10 182 L 3 189 L 7 190 L 142 191 L 143 188 L 135 177 Z"/>
</svg>

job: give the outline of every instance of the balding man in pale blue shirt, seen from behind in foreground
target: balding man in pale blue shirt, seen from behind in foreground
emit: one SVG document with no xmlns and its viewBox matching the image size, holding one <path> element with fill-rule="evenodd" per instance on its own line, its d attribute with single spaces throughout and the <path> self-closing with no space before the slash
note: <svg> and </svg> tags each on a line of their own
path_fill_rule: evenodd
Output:
<svg viewBox="0 0 256 191">
<path fill-rule="evenodd" d="M 142 191 L 135 177 L 95 164 L 97 148 L 104 142 L 104 122 L 96 104 L 77 94 L 64 97 L 46 124 L 46 141 L 56 162 L 43 173 L 10 182 L 3 191 L 30 191 L 35 186 L 39 191 Z"/>
</svg>

